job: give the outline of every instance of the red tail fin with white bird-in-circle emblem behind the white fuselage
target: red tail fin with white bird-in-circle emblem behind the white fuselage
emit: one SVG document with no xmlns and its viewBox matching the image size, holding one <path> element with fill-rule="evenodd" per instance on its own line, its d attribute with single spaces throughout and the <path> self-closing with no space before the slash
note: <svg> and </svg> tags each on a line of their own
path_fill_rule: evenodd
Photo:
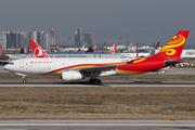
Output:
<svg viewBox="0 0 195 130">
<path fill-rule="evenodd" d="M 29 42 L 36 57 L 50 57 L 36 41 L 29 40 Z"/>
</svg>

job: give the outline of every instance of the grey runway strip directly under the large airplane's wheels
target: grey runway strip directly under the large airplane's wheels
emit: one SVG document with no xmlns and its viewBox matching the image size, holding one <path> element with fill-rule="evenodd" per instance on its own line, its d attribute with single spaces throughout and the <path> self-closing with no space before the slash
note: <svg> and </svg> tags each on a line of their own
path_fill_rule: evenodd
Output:
<svg viewBox="0 0 195 130">
<path fill-rule="evenodd" d="M 25 87 L 32 87 L 32 88 L 106 88 L 106 87 L 113 87 L 113 88 L 156 88 L 156 87 L 162 87 L 162 88 L 182 88 L 182 87 L 188 87 L 194 88 L 195 81 L 112 81 L 112 82 L 102 82 L 102 84 L 90 84 L 88 81 L 73 81 L 73 82 L 63 82 L 63 81 L 29 81 L 26 83 L 23 82 L 8 82 L 3 81 L 0 82 L 0 88 L 5 87 L 15 87 L 15 88 L 25 88 Z"/>
</svg>

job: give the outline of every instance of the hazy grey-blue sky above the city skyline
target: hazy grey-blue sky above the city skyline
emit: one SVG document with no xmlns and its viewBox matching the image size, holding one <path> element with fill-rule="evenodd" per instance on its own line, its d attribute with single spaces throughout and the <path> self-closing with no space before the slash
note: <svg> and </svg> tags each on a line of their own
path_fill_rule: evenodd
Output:
<svg viewBox="0 0 195 130">
<path fill-rule="evenodd" d="M 20 31 L 54 28 L 63 37 L 78 27 L 98 37 L 157 32 L 159 40 L 165 32 L 170 39 L 180 29 L 190 29 L 188 42 L 194 42 L 195 0 L 0 0 L 0 31 L 13 31 L 9 26 L 16 25 Z"/>
</svg>

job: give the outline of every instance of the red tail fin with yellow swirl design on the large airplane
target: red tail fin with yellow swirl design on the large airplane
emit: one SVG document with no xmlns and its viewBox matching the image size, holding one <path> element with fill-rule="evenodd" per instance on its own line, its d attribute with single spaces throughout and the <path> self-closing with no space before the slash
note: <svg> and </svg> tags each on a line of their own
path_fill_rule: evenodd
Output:
<svg viewBox="0 0 195 130">
<path fill-rule="evenodd" d="M 180 30 L 157 54 L 150 58 L 179 60 L 190 30 Z"/>
</svg>

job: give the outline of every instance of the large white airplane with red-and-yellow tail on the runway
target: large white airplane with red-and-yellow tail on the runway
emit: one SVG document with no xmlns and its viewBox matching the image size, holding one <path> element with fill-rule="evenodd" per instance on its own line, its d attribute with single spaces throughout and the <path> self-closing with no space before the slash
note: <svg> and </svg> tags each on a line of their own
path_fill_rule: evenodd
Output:
<svg viewBox="0 0 195 130">
<path fill-rule="evenodd" d="M 21 58 L 9 62 L 4 69 L 16 75 L 60 75 L 62 80 L 72 81 L 91 77 L 90 83 L 101 83 L 98 77 L 113 75 L 135 75 L 155 72 L 183 63 L 181 53 L 190 30 L 180 30 L 158 53 L 150 57 L 122 61 L 122 58 Z M 38 52 L 41 55 L 40 52 Z"/>
</svg>

